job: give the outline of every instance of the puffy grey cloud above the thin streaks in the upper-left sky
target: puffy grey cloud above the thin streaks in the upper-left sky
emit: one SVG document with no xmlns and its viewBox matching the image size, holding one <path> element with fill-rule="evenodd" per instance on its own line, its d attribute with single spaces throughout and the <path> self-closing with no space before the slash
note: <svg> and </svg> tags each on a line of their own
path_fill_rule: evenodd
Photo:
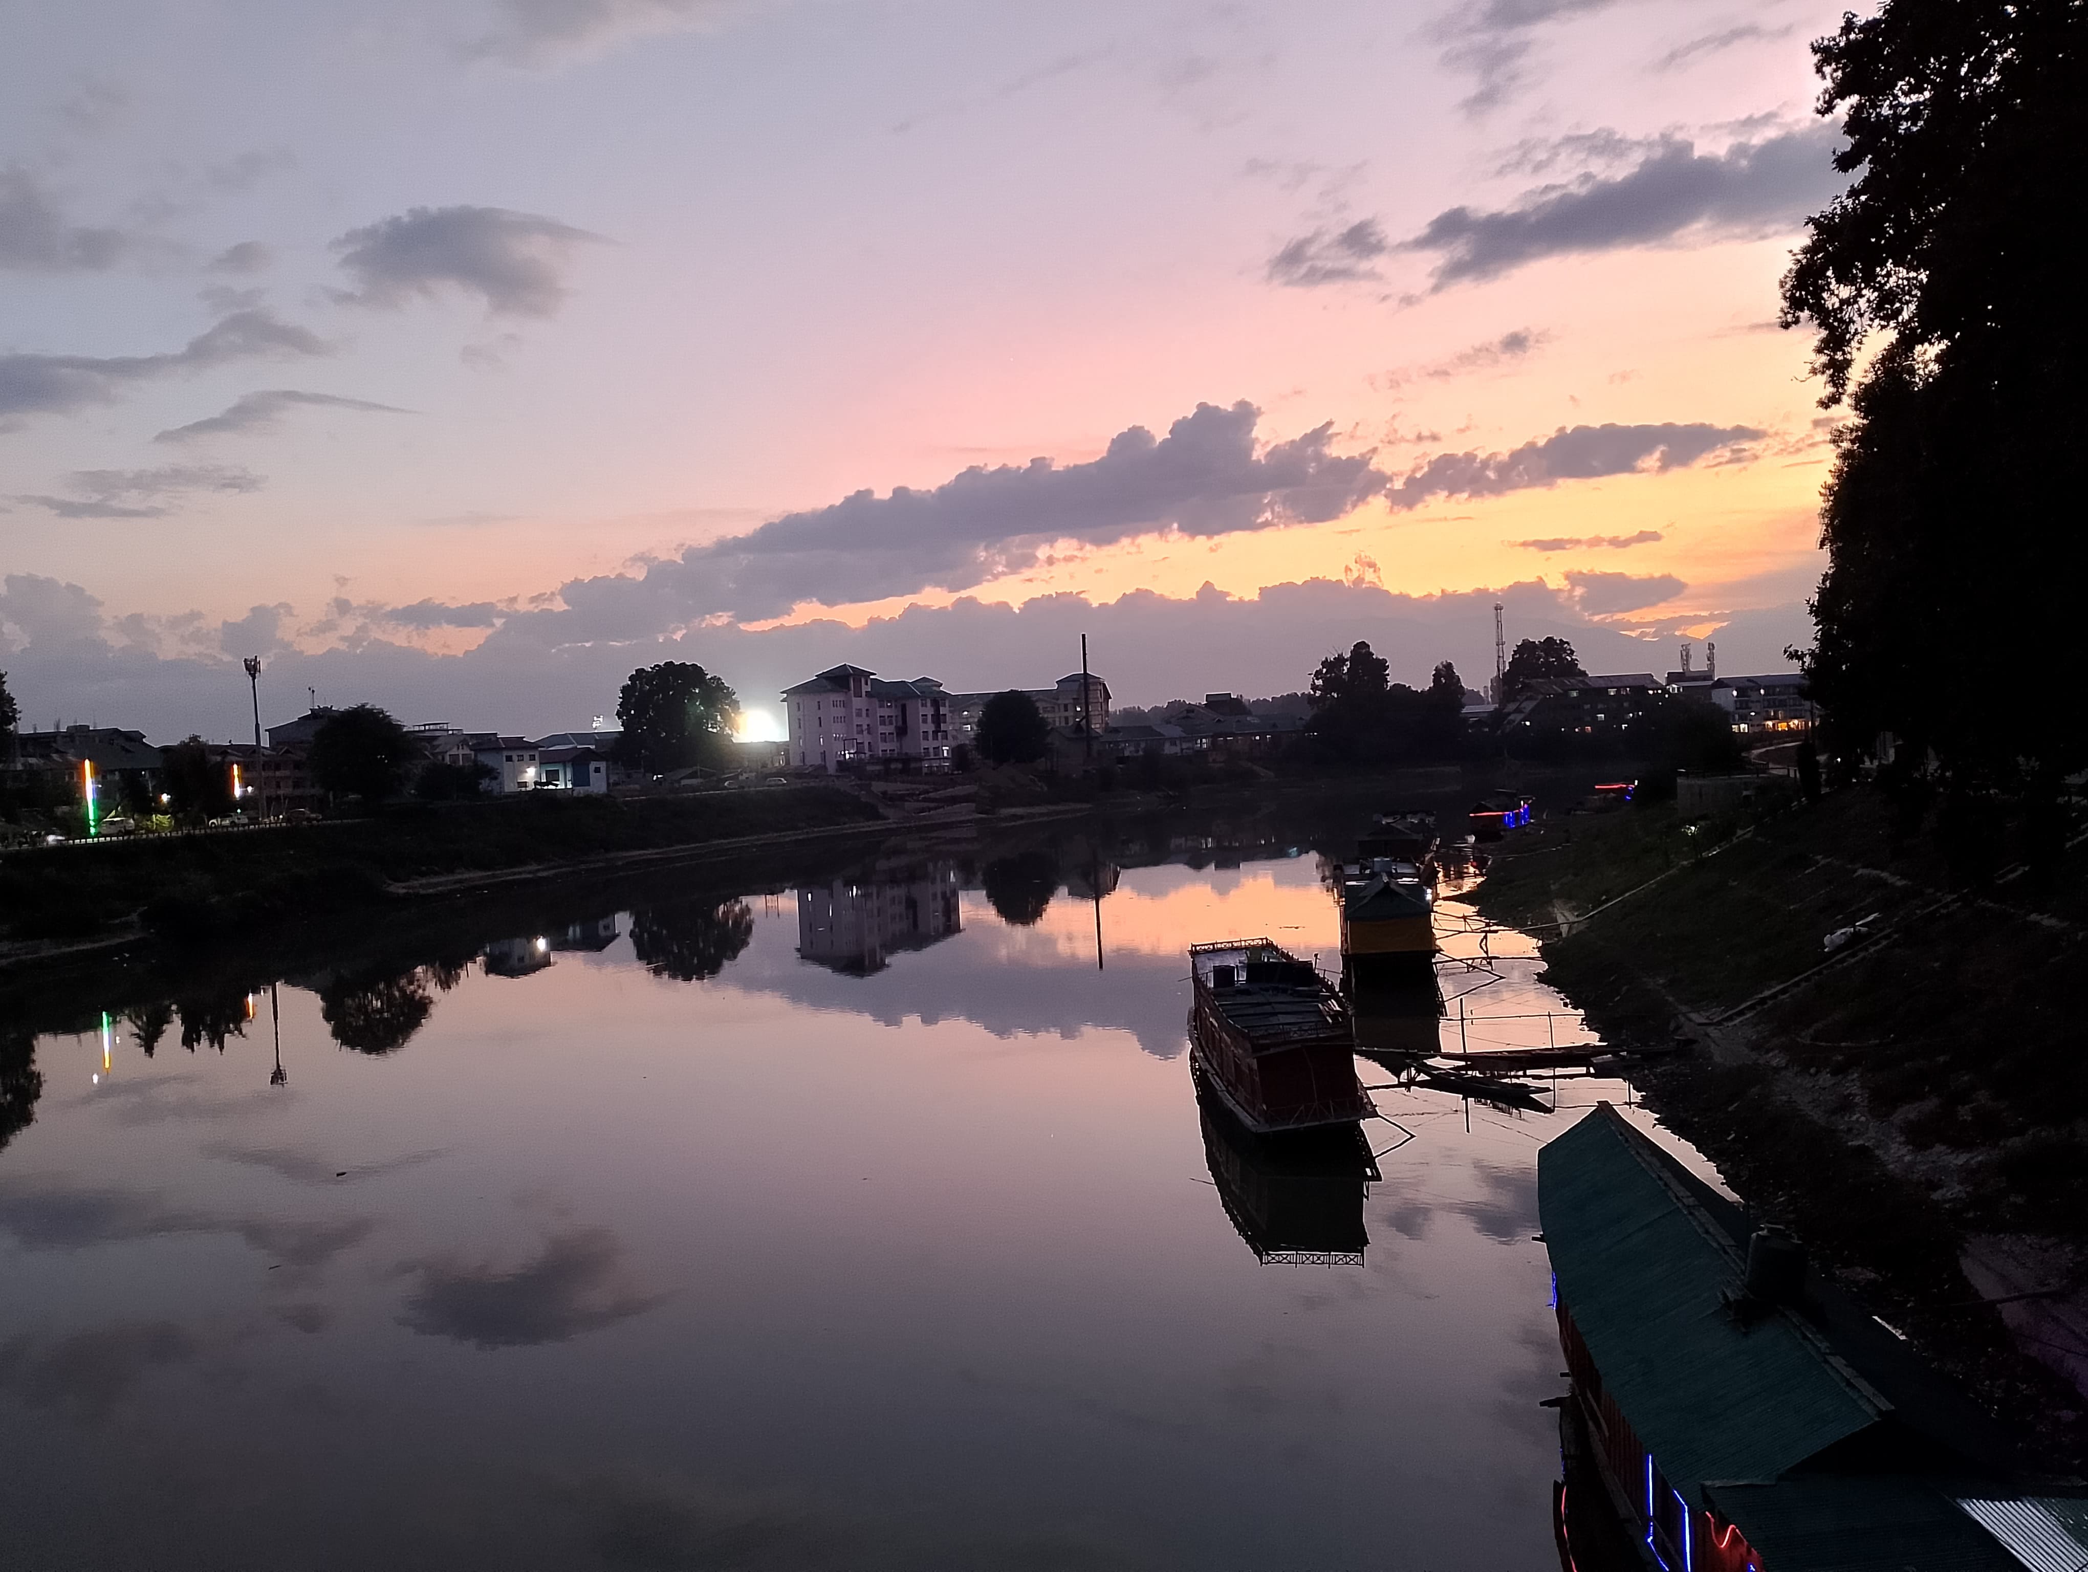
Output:
<svg viewBox="0 0 2088 1572">
<path fill-rule="evenodd" d="M 476 294 L 495 315 L 549 317 L 566 303 L 566 265 L 601 236 L 505 207 L 413 207 L 332 242 L 355 278 L 342 301 L 399 307 L 443 290 Z"/>
</svg>

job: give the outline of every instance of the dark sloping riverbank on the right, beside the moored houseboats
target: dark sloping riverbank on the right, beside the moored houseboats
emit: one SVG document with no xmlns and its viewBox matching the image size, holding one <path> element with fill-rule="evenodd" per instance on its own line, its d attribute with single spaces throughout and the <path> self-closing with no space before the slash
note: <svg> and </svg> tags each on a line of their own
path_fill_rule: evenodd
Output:
<svg viewBox="0 0 2088 1572">
<path fill-rule="evenodd" d="M 1503 843 L 1478 904 L 1543 937 L 1545 979 L 1606 1040 L 1693 1048 L 1635 1077 L 1647 1104 L 2080 1466 L 2082 862 L 2042 900 L 2021 877 L 1952 889 L 1854 789 L 1695 829 L 1672 806 L 1551 818 Z"/>
</svg>

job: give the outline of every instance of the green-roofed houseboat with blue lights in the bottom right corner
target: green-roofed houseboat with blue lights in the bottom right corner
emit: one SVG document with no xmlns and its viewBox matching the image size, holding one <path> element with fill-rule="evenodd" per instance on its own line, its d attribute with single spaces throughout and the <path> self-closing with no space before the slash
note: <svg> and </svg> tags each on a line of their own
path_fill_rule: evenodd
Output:
<svg viewBox="0 0 2088 1572">
<path fill-rule="evenodd" d="M 1608 1102 L 1537 1154 L 1570 1572 L 2088 1566 L 2078 1482 Z"/>
</svg>

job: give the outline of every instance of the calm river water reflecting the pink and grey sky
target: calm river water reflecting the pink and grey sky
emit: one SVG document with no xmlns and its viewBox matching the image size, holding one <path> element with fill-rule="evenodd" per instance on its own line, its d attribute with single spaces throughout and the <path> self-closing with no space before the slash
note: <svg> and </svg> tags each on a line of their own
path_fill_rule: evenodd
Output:
<svg viewBox="0 0 2088 1572">
<path fill-rule="evenodd" d="M 86 1000 L 0 1150 L 0 1566 L 1556 1566 L 1533 1157 L 1622 1088 L 1378 1092 L 1286 1190 L 1182 950 L 1332 962 L 1320 860 L 1140 845 Z M 1485 948 L 1474 1048 L 1585 1038 Z"/>
</svg>

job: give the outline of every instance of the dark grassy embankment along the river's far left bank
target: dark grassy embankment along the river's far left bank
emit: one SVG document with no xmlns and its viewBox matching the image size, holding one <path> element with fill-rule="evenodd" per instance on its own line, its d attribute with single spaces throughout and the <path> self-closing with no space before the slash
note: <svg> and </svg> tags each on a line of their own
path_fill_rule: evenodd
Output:
<svg viewBox="0 0 2088 1572">
<path fill-rule="evenodd" d="M 399 808 L 349 823 L 138 837 L 0 858 L 8 939 L 79 939 L 140 923 L 192 939 L 399 902 L 397 885 L 881 825 L 850 791 L 806 785 L 691 797 L 520 797 Z"/>
</svg>

